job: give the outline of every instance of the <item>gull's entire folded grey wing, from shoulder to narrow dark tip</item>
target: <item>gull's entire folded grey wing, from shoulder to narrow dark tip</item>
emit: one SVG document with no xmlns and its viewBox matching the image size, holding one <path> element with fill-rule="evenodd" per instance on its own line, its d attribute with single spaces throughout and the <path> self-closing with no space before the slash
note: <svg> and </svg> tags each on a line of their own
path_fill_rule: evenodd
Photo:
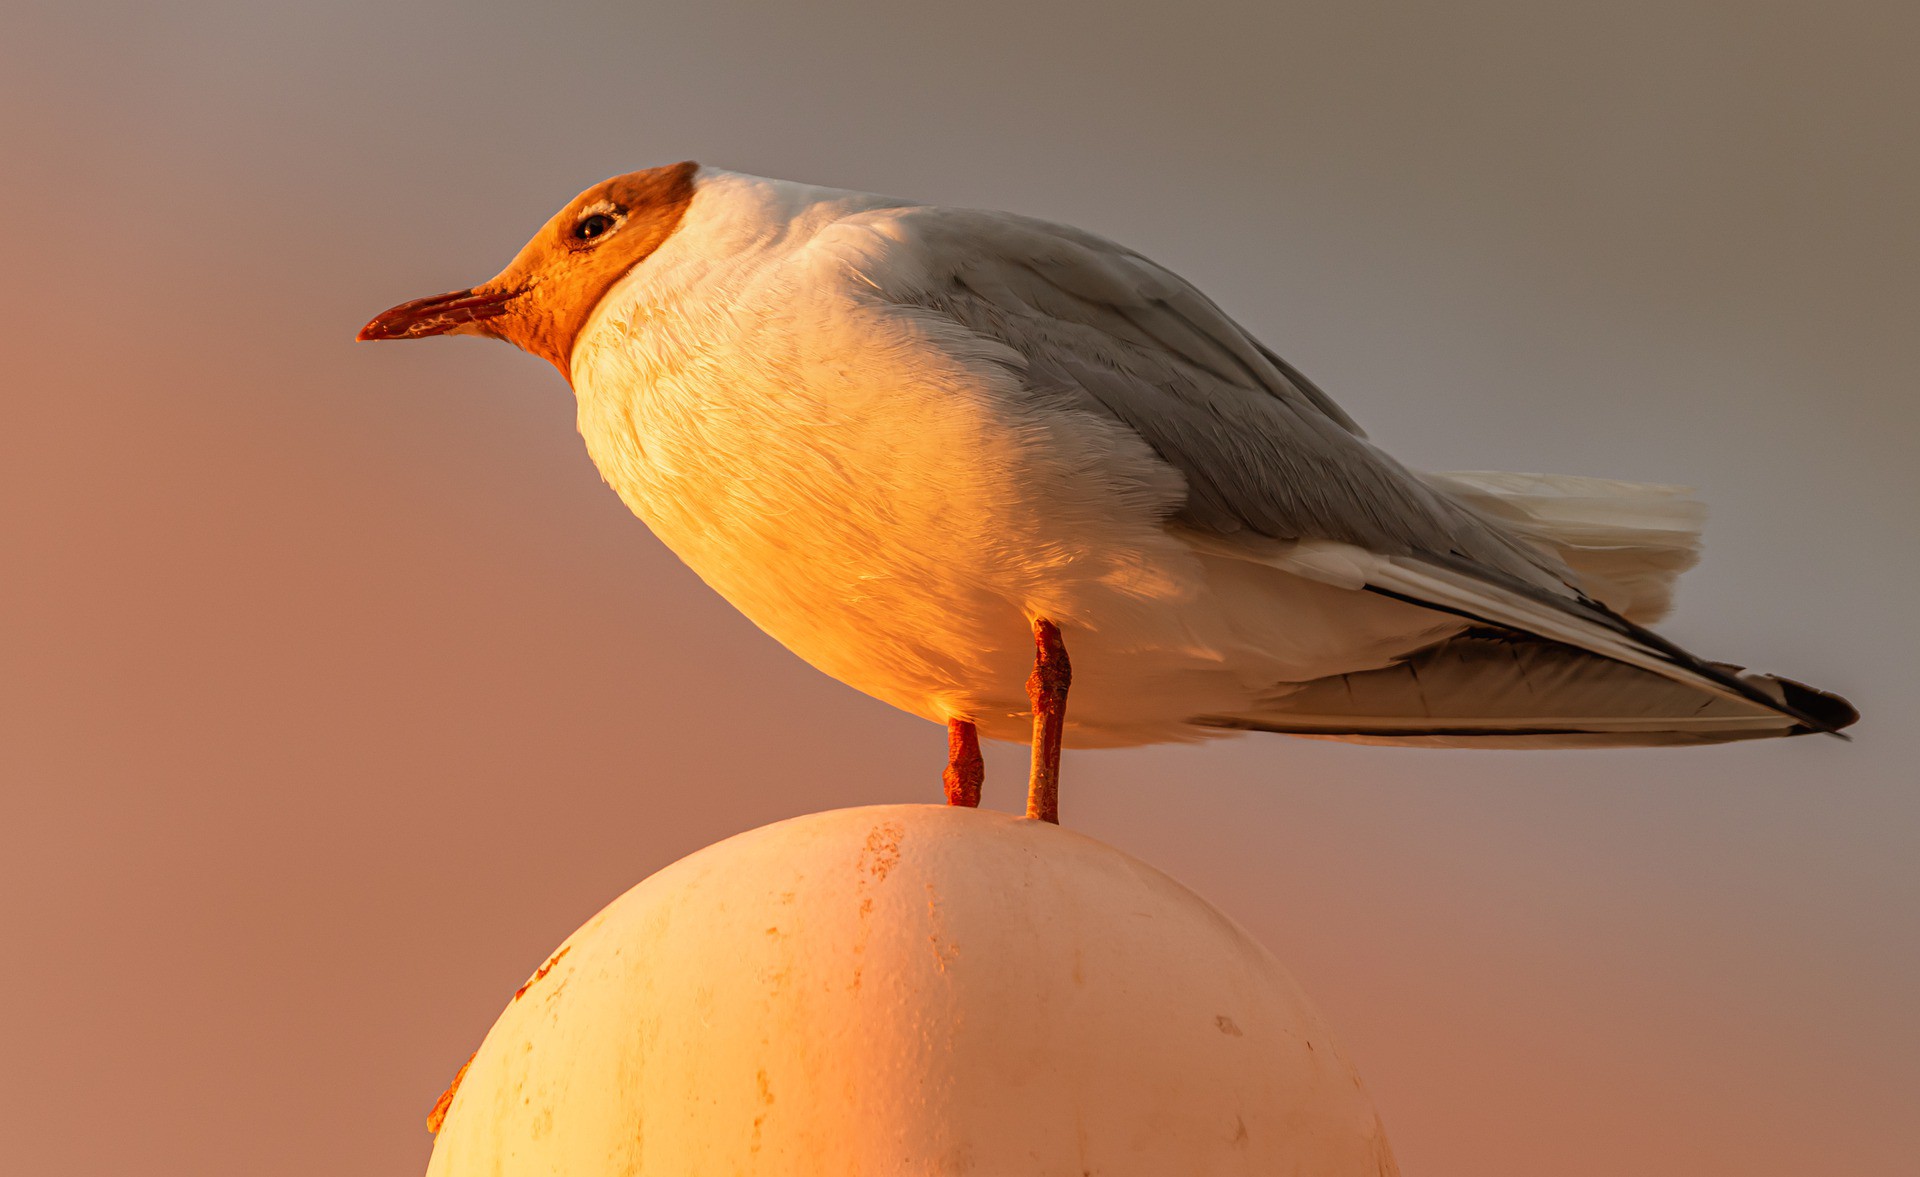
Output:
<svg viewBox="0 0 1920 1177">
<path fill-rule="evenodd" d="M 1187 503 L 1169 524 L 1200 541 L 1248 553 L 1290 543 L 1286 559 L 1308 574 L 1325 551 L 1338 549 L 1342 566 L 1357 553 L 1369 591 L 1830 730 L 1586 597 L 1555 557 L 1367 442 L 1325 392 L 1179 275 L 1027 217 L 939 207 L 893 215 L 912 257 L 874 282 L 879 292 L 1002 344 L 1035 394 L 1133 428 L 1185 476 Z M 1256 538 L 1265 543 L 1248 543 Z"/>
</svg>

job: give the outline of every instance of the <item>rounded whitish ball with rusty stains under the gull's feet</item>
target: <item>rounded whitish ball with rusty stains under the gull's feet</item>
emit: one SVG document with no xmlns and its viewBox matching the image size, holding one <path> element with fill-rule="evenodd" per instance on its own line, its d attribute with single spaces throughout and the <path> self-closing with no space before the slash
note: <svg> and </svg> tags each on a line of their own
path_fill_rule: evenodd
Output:
<svg viewBox="0 0 1920 1177">
<path fill-rule="evenodd" d="M 493 1023 L 428 1177 L 1394 1175 L 1327 1023 L 1091 837 L 889 805 L 699 851 Z"/>
</svg>

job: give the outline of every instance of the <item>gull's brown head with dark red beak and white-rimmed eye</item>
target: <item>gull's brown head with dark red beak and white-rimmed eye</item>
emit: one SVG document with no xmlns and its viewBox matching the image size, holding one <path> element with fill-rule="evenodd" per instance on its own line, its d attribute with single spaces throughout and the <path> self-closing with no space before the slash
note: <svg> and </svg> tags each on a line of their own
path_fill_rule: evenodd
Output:
<svg viewBox="0 0 1920 1177">
<path fill-rule="evenodd" d="M 359 338 L 493 336 L 566 376 L 574 336 L 599 300 L 680 227 L 695 171 L 697 163 L 672 163 L 593 184 L 492 280 L 380 311 Z"/>
</svg>

